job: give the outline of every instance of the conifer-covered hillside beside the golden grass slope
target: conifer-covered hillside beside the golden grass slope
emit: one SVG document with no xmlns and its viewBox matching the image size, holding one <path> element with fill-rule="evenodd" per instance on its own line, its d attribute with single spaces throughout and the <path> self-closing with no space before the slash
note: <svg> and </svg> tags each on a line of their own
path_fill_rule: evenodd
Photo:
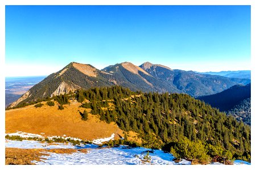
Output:
<svg viewBox="0 0 256 170">
<path fill-rule="evenodd" d="M 189 95 L 132 92 L 114 86 L 80 90 L 76 97 L 81 107 L 91 108 L 89 113 L 101 120 L 141 134 L 145 147 L 175 150 L 178 158 L 200 162 L 219 157 L 250 161 L 250 126 Z M 184 152 L 182 145 L 191 147 L 191 153 Z"/>
</svg>

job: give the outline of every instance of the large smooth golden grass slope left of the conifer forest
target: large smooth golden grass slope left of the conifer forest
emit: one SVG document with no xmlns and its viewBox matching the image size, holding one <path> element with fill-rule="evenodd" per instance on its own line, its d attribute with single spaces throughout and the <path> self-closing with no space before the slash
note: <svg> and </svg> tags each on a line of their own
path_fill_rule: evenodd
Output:
<svg viewBox="0 0 256 170">
<path fill-rule="evenodd" d="M 123 131 L 114 122 L 107 124 L 92 114 L 89 114 L 87 121 L 82 121 L 79 111 L 83 112 L 84 108 L 79 108 L 81 103 L 64 105 L 64 110 L 59 110 L 56 103 L 53 107 L 43 103 L 41 108 L 30 105 L 6 111 L 6 133 L 44 133 L 46 137 L 65 134 L 87 140 L 110 137 L 113 133 L 115 139 L 119 139 L 119 135 L 123 137 Z"/>
</svg>

